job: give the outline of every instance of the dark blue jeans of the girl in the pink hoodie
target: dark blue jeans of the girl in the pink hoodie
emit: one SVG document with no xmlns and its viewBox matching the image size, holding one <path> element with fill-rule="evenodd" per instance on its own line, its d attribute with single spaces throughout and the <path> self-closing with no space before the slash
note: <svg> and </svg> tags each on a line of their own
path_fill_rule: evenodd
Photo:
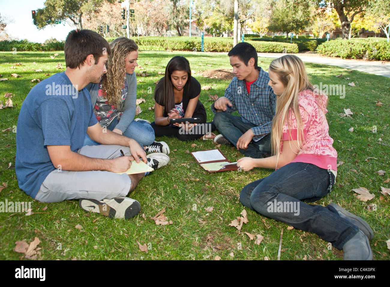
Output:
<svg viewBox="0 0 390 287">
<path fill-rule="evenodd" d="M 313 232 L 324 241 L 331 242 L 339 250 L 359 230 L 348 220 L 341 218 L 332 207 L 309 205 L 301 200 L 314 202 L 330 193 L 335 182 L 333 173 L 314 164 L 291 162 L 269 176 L 246 185 L 240 201 L 246 207 L 265 216 L 282 221 L 296 229 Z M 276 202 L 293 202 L 297 212 L 271 212 Z M 276 209 L 274 210 L 276 211 Z M 280 211 L 280 210 L 278 210 Z"/>
</svg>

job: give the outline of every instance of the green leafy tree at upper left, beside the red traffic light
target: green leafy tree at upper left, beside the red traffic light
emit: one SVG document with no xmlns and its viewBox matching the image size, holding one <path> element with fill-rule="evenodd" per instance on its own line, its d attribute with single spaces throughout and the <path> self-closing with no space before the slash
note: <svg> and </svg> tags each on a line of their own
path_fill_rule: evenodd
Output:
<svg viewBox="0 0 390 287">
<path fill-rule="evenodd" d="M 57 21 L 70 20 L 78 29 L 83 29 L 83 14 L 95 12 L 102 2 L 103 0 L 46 0 L 44 8 L 37 9 L 34 24 L 42 29 Z"/>
</svg>

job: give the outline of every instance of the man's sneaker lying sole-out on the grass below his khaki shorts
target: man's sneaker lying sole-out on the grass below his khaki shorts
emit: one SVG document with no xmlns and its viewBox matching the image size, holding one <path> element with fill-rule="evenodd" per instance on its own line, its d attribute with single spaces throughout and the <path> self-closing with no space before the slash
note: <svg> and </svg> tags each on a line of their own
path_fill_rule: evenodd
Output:
<svg viewBox="0 0 390 287">
<path fill-rule="evenodd" d="M 80 207 L 87 212 L 97 212 L 112 218 L 129 219 L 140 212 L 141 205 L 129 197 L 103 199 L 101 201 L 82 198 L 78 201 Z"/>
</svg>

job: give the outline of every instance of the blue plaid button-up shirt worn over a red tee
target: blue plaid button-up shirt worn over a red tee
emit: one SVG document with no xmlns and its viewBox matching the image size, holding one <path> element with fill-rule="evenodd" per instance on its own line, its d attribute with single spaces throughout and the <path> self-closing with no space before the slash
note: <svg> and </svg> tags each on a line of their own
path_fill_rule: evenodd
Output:
<svg viewBox="0 0 390 287">
<path fill-rule="evenodd" d="M 250 94 L 246 90 L 245 80 L 234 77 L 225 90 L 225 97 L 232 103 L 227 105 L 226 112 L 238 111 L 245 123 L 252 123 L 256 127 L 251 128 L 254 141 L 259 141 L 271 132 L 272 118 L 275 115 L 276 95 L 268 86 L 269 76 L 262 68 L 258 67 L 259 77 L 250 85 Z M 214 103 L 211 111 L 216 114 Z"/>
</svg>

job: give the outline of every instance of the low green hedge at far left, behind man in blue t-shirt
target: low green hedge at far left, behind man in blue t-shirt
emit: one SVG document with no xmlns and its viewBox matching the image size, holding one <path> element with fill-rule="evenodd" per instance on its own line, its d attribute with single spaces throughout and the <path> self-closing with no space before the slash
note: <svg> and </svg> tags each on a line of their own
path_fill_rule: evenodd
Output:
<svg viewBox="0 0 390 287">
<path fill-rule="evenodd" d="M 30 43 L 24 40 L 21 41 L 0 41 L 0 51 L 63 51 L 64 42 L 58 43 Z"/>
</svg>

